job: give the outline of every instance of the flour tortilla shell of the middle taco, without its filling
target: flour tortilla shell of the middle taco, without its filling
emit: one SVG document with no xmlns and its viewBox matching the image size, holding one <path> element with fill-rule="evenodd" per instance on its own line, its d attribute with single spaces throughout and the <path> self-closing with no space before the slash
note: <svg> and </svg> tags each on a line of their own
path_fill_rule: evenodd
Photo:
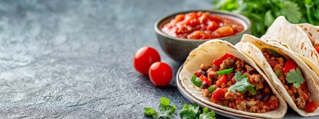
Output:
<svg viewBox="0 0 319 119">
<path fill-rule="evenodd" d="M 304 109 L 297 108 L 296 104 L 289 96 L 287 90 L 284 88 L 283 84 L 277 78 L 273 69 L 267 62 L 266 58 L 261 52 L 261 49 L 270 48 L 283 55 L 286 59 L 293 60 L 294 62 L 296 62 L 297 65 L 300 66 L 300 69 L 304 74 L 304 78 L 307 81 L 308 90 L 312 93 L 311 98 L 319 101 L 319 89 L 315 84 L 315 78 L 313 77 L 317 76 L 316 73 L 313 70 L 311 70 L 303 60 L 295 56 L 293 52 L 289 51 L 287 48 L 282 47 L 282 45 L 278 42 L 272 42 L 278 41 L 278 38 L 267 37 L 267 39 L 265 40 L 261 40 L 254 36 L 244 34 L 243 38 L 241 39 L 241 42 L 236 44 L 236 46 L 239 47 L 246 56 L 248 56 L 255 62 L 259 62 L 257 63 L 257 65 L 265 72 L 267 77 L 272 81 L 274 86 L 277 88 L 279 93 L 281 93 L 281 95 L 284 97 L 284 99 L 290 105 L 290 107 L 292 107 L 299 115 L 304 117 L 319 115 L 319 108 L 317 108 L 316 111 L 313 113 L 306 113 Z"/>
</svg>

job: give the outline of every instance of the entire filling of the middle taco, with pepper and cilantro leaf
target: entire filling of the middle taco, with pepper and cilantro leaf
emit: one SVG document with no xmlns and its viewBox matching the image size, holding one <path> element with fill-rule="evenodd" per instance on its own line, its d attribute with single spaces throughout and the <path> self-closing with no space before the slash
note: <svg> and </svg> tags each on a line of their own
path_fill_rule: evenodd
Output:
<svg viewBox="0 0 319 119">
<path fill-rule="evenodd" d="M 307 113 L 314 112 L 319 103 L 310 98 L 312 94 L 308 90 L 300 67 L 272 49 L 262 48 L 262 53 L 296 106 L 305 109 Z"/>
</svg>

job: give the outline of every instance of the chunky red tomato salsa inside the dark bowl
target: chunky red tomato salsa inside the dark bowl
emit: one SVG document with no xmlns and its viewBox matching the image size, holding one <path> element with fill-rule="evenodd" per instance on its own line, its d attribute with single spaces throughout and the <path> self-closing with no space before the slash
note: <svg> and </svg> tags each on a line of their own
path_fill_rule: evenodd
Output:
<svg viewBox="0 0 319 119">
<path fill-rule="evenodd" d="M 214 39 L 231 36 L 243 30 L 244 26 L 238 21 L 201 11 L 178 14 L 161 26 L 162 32 L 184 39 Z"/>
</svg>

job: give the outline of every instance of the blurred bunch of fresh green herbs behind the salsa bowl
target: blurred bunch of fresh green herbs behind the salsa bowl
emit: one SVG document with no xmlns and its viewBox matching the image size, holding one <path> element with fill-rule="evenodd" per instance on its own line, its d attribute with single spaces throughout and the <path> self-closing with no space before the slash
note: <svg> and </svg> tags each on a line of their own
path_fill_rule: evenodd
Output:
<svg viewBox="0 0 319 119">
<path fill-rule="evenodd" d="M 275 18 L 283 15 L 291 23 L 319 25 L 319 0 L 213 0 L 213 9 L 247 16 L 252 34 L 265 34 Z"/>
</svg>

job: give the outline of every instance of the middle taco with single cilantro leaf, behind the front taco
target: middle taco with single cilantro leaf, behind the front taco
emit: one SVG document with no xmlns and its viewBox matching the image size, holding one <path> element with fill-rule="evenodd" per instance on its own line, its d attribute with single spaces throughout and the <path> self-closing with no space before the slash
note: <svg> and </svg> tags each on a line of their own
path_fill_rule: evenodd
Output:
<svg viewBox="0 0 319 119">
<path fill-rule="evenodd" d="M 301 116 L 319 115 L 317 74 L 275 37 L 261 40 L 244 34 L 236 44 L 265 72 L 286 102 Z"/>
</svg>

